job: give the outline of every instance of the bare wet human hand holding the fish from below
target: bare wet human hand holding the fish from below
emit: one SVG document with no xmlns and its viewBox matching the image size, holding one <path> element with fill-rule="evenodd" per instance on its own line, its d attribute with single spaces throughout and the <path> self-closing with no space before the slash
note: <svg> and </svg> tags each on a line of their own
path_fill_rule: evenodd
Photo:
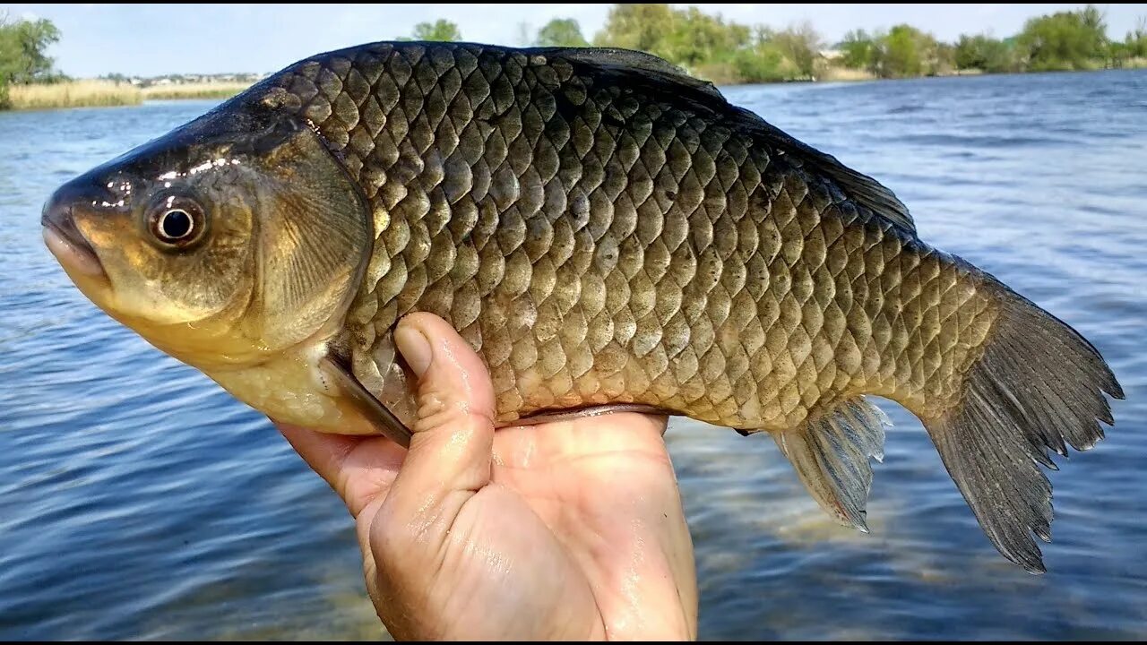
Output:
<svg viewBox="0 0 1147 645">
<path fill-rule="evenodd" d="M 419 376 L 409 451 L 280 426 L 354 516 L 391 636 L 696 638 L 693 544 L 664 417 L 494 432 L 490 375 L 450 325 L 407 316 L 396 343 Z"/>
</svg>

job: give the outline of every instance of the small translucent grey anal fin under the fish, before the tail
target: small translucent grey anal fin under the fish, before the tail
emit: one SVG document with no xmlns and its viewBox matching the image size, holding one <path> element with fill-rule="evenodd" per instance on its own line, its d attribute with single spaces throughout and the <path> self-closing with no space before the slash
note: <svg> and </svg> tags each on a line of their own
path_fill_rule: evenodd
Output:
<svg viewBox="0 0 1147 645">
<path fill-rule="evenodd" d="M 888 425 L 879 407 L 858 396 L 797 428 L 773 433 L 773 438 L 821 508 L 845 526 L 868 533 L 868 458 L 883 460 Z"/>
</svg>

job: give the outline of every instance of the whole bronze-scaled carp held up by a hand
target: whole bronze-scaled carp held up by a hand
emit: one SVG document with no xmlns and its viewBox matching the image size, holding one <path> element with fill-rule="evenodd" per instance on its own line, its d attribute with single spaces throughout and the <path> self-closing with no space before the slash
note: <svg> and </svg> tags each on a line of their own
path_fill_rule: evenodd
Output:
<svg viewBox="0 0 1147 645">
<path fill-rule="evenodd" d="M 1045 570 L 1050 452 L 1123 391 L 1079 333 L 922 241 L 875 179 L 638 52 L 375 42 L 299 61 L 61 186 L 99 308 L 284 422 L 406 445 L 393 329 L 448 321 L 499 427 L 617 411 L 768 433 L 866 528 L 887 419 Z"/>
</svg>

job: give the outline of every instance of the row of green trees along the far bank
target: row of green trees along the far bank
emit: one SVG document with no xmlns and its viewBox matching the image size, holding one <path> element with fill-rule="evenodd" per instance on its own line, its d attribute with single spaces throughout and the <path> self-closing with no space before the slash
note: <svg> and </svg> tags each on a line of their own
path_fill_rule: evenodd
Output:
<svg viewBox="0 0 1147 645">
<path fill-rule="evenodd" d="M 520 31 L 517 45 L 640 49 L 719 84 L 817 80 L 843 72 L 904 78 L 1147 67 L 1147 18 L 1122 40 L 1111 39 L 1102 11 L 1091 5 L 1030 18 L 1007 38 L 965 34 L 955 42 L 898 24 L 872 33 L 853 30 L 829 44 L 807 22 L 773 29 L 670 5 L 614 5 L 592 39 L 572 18 L 555 18 L 537 31 L 522 24 Z M 0 15 L 0 109 L 7 107 L 10 85 L 67 78 L 46 54 L 60 36 L 50 21 Z M 419 23 L 411 39 L 460 41 L 463 36 L 455 23 L 438 20 Z"/>
</svg>

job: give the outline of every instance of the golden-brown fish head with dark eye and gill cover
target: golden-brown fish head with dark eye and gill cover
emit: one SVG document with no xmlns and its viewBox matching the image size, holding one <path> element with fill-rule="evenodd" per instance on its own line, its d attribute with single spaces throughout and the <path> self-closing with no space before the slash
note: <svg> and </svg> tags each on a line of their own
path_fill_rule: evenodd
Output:
<svg viewBox="0 0 1147 645">
<path fill-rule="evenodd" d="M 209 373 L 337 331 L 373 242 L 318 132 L 248 95 L 63 185 L 41 224 L 89 300 Z"/>
</svg>

